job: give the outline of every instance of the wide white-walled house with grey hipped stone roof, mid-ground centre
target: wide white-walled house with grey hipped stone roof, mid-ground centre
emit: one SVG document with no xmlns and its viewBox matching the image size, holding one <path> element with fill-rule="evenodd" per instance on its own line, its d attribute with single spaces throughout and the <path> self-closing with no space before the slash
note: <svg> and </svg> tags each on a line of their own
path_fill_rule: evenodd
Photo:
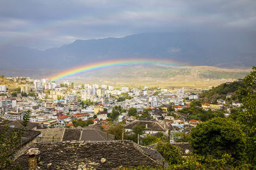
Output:
<svg viewBox="0 0 256 170">
<path fill-rule="evenodd" d="M 136 125 L 145 125 L 145 130 L 143 131 L 145 134 L 154 134 L 157 132 L 163 132 L 168 134 L 168 128 L 165 124 L 144 120 L 134 120 L 134 122 L 125 125 L 125 132 L 132 132 L 132 127 Z"/>
</svg>

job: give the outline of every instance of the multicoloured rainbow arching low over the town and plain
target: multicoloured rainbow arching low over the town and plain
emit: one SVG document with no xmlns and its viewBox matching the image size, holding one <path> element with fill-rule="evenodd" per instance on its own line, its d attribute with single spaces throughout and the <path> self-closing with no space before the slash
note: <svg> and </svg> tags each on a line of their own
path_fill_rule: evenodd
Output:
<svg viewBox="0 0 256 170">
<path fill-rule="evenodd" d="M 171 60 L 154 60 L 154 59 L 122 59 L 122 60 L 104 60 L 102 62 L 93 62 L 90 64 L 85 64 L 83 66 L 74 67 L 60 73 L 54 74 L 50 77 L 51 81 L 58 81 L 63 78 L 68 78 L 81 73 L 86 73 L 88 71 L 94 71 L 97 69 L 104 69 L 107 67 L 115 66 L 129 66 L 129 65 L 165 65 L 165 66 L 184 66 L 173 62 Z"/>
</svg>

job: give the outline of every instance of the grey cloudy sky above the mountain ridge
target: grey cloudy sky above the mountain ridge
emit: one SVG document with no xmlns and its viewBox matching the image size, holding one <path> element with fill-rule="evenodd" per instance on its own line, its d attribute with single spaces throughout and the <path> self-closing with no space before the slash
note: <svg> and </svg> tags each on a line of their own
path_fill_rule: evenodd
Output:
<svg viewBox="0 0 256 170">
<path fill-rule="evenodd" d="M 142 32 L 256 31 L 255 0 L 1 0 L 0 45 L 45 49 Z"/>
</svg>

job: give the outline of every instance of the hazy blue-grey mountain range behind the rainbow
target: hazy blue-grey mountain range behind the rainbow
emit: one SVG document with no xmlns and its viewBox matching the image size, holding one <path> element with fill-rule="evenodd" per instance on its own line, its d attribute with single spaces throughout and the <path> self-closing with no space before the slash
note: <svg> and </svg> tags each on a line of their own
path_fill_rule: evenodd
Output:
<svg viewBox="0 0 256 170">
<path fill-rule="evenodd" d="M 170 59 L 186 66 L 248 68 L 256 65 L 255 44 L 256 36 L 246 32 L 162 32 L 77 39 L 47 50 L 2 45 L 0 67 L 61 70 L 100 60 L 147 58 Z"/>
</svg>

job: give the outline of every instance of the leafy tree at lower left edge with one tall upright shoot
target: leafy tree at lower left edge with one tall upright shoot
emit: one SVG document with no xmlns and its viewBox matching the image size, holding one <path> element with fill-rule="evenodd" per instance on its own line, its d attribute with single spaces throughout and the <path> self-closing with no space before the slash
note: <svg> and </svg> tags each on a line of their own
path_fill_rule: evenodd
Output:
<svg viewBox="0 0 256 170">
<path fill-rule="evenodd" d="M 10 129 L 8 125 L 4 127 L 0 134 L 0 169 L 8 169 L 13 161 L 13 155 L 17 152 L 22 136 L 29 122 L 31 111 L 26 111 L 22 127 L 20 129 Z"/>
</svg>

